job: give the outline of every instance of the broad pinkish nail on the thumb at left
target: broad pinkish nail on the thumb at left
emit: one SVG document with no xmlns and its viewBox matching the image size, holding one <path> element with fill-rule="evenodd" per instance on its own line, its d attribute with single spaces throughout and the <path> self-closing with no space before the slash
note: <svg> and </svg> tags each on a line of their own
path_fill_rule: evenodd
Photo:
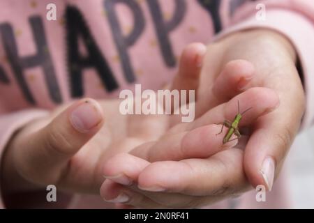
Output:
<svg viewBox="0 0 314 223">
<path fill-rule="evenodd" d="M 86 100 L 77 106 L 70 114 L 70 122 L 79 132 L 88 132 L 94 128 L 100 121 L 102 116 L 93 102 Z"/>
</svg>

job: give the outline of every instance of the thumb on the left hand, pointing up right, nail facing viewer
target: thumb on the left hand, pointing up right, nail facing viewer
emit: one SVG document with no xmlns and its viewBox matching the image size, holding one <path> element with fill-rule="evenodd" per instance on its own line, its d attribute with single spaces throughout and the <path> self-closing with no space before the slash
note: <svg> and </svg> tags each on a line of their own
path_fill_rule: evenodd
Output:
<svg viewBox="0 0 314 223">
<path fill-rule="evenodd" d="M 48 125 L 24 137 L 15 153 L 17 171 L 33 183 L 57 183 L 70 160 L 103 125 L 98 102 L 83 99 Z"/>
</svg>

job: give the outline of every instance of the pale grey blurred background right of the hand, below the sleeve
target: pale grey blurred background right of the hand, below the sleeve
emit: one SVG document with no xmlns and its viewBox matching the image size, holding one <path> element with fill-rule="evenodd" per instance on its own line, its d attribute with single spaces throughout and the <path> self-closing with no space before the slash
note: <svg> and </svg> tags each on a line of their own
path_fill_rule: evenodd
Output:
<svg viewBox="0 0 314 223">
<path fill-rule="evenodd" d="M 286 161 L 292 208 L 314 208 L 314 128 L 297 136 Z"/>
</svg>

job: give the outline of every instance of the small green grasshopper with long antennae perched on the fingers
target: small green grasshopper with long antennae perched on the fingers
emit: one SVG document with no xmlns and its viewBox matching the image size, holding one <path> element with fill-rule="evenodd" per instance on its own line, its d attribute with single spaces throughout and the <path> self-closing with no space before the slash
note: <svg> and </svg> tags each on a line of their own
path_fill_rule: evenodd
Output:
<svg viewBox="0 0 314 223">
<path fill-rule="evenodd" d="M 240 139 L 241 134 L 239 132 L 239 123 L 241 121 L 242 116 L 244 115 L 244 113 L 248 112 L 248 110 L 252 109 L 252 107 L 246 109 L 244 112 L 240 113 L 240 104 L 239 104 L 239 100 L 238 100 L 238 114 L 234 117 L 234 120 L 232 121 L 232 123 L 230 121 L 223 121 L 222 123 L 216 123 L 216 125 L 223 125 L 227 128 L 229 128 L 228 132 L 225 134 L 225 137 L 223 137 L 223 144 L 226 144 L 229 141 L 234 141 L 237 139 Z M 221 134 L 221 132 L 223 132 L 223 126 L 221 126 L 221 130 L 218 134 Z M 232 137 L 232 134 L 234 134 L 235 136 L 237 136 L 236 139 L 232 139 L 230 140 L 230 138 Z"/>
</svg>

